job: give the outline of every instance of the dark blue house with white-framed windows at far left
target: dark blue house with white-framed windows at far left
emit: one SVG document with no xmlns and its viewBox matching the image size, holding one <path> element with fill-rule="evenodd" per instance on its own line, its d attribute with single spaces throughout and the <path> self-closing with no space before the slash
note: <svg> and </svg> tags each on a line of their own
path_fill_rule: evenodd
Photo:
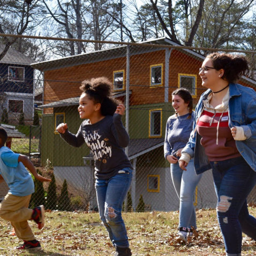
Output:
<svg viewBox="0 0 256 256">
<path fill-rule="evenodd" d="M 0 44 L 0 52 L 4 49 Z M 21 112 L 25 122 L 31 122 L 34 116 L 34 69 L 33 59 L 21 52 L 9 48 L 0 59 L 0 116 L 5 109 L 9 123 L 17 124 Z"/>
</svg>

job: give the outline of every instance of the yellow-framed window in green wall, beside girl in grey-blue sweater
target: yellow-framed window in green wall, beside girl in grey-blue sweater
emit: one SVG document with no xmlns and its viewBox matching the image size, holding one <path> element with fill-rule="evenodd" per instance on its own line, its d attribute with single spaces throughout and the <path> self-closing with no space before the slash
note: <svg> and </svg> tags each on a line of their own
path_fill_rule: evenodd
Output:
<svg viewBox="0 0 256 256">
<path fill-rule="evenodd" d="M 162 136 L 162 109 L 149 110 L 149 137 Z"/>
</svg>

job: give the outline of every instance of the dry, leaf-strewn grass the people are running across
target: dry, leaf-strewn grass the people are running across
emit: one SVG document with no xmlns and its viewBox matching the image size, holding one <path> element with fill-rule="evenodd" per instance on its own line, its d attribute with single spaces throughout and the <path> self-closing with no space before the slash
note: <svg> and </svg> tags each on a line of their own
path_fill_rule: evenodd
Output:
<svg viewBox="0 0 256 256">
<path fill-rule="evenodd" d="M 256 208 L 249 210 L 256 215 Z M 175 242 L 178 212 L 124 213 L 123 217 L 133 255 L 225 255 L 215 210 L 197 211 L 199 236 L 193 236 L 185 245 Z M 47 212 L 43 230 L 37 230 L 34 222 L 30 223 L 42 250 L 14 249 L 21 241 L 9 235 L 11 225 L 1 219 L 0 255 L 114 255 L 114 247 L 98 213 Z M 245 235 L 242 255 L 256 255 L 256 242 Z"/>
</svg>

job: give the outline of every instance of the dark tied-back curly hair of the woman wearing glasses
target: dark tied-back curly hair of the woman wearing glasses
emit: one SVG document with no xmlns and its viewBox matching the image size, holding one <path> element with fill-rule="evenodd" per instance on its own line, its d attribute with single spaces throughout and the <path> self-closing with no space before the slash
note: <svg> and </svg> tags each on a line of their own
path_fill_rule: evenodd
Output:
<svg viewBox="0 0 256 256">
<path fill-rule="evenodd" d="M 206 56 L 212 59 L 213 67 L 216 70 L 223 69 L 222 79 L 228 82 L 236 82 L 242 76 L 248 76 L 249 65 L 243 55 L 224 54 L 213 52 Z"/>
</svg>

